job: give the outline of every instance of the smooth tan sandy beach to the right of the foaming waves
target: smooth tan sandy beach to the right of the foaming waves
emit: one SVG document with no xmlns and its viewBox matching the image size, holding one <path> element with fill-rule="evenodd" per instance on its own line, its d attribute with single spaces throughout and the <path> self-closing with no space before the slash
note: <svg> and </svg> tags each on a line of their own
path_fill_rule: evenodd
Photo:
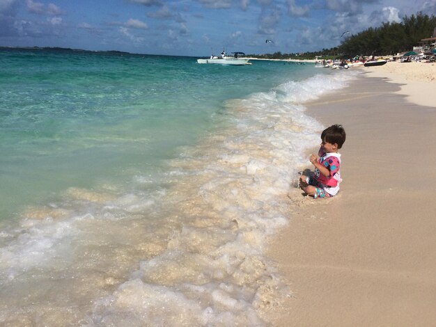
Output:
<svg viewBox="0 0 436 327">
<path fill-rule="evenodd" d="M 428 196 L 436 184 L 436 96 L 426 94 L 430 106 L 419 106 L 411 99 L 423 97 L 416 88 L 423 82 L 403 74 L 404 85 L 419 93 L 404 95 L 410 88 L 377 68 L 306 104 L 323 125 L 341 123 L 347 131 L 344 182 L 325 200 L 290 189 L 290 223 L 270 239 L 267 255 L 292 294 L 268 313 L 272 326 L 436 321 L 436 205 Z"/>
</svg>

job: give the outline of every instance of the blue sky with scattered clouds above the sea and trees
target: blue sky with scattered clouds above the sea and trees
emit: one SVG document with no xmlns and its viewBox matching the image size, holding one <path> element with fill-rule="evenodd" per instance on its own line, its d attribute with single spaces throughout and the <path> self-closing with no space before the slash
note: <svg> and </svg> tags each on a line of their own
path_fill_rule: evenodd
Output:
<svg viewBox="0 0 436 327">
<path fill-rule="evenodd" d="M 0 0 L 0 46 L 180 56 L 316 51 L 339 45 L 344 31 L 418 11 L 436 14 L 436 0 Z"/>
</svg>

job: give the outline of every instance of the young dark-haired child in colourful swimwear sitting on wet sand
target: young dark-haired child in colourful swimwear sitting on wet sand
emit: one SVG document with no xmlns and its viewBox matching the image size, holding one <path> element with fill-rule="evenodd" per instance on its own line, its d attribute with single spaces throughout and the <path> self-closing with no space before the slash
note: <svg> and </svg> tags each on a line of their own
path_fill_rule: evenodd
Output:
<svg viewBox="0 0 436 327">
<path fill-rule="evenodd" d="M 321 147 L 318 156 L 312 154 L 309 160 L 315 166 L 313 175 L 302 175 L 299 187 L 314 198 L 330 198 L 339 191 L 341 180 L 341 149 L 345 142 L 345 129 L 342 125 L 332 125 L 321 133 Z"/>
</svg>

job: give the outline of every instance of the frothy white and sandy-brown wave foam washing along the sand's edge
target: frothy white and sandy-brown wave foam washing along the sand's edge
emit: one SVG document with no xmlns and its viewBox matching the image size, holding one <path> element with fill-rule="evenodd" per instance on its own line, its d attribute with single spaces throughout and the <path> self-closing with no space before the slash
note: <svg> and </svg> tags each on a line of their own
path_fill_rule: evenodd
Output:
<svg viewBox="0 0 436 327">
<path fill-rule="evenodd" d="M 289 294 L 263 255 L 265 240 L 288 222 L 286 193 L 322 129 L 303 104 L 347 79 L 316 76 L 227 102 L 232 124 L 173 162 L 185 177 L 164 201 L 176 200 L 180 228 L 161 255 L 96 305 L 92 325 L 103 326 L 108 314 L 159 317 L 162 326 L 263 325 L 259 312 Z M 137 308 L 136 296 L 153 300 Z"/>
</svg>

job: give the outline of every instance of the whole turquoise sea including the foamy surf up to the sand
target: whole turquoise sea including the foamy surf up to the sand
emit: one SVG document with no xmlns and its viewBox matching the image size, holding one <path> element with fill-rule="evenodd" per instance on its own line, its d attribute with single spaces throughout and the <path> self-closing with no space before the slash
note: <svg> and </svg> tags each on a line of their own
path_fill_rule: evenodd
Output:
<svg viewBox="0 0 436 327">
<path fill-rule="evenodd" d="M 2 324 L 267 324 L 288 290 L 265 237 L 322 130 L 304 102 L 354 74 L 42 49 L 0 63 Z"/>
</svg>

